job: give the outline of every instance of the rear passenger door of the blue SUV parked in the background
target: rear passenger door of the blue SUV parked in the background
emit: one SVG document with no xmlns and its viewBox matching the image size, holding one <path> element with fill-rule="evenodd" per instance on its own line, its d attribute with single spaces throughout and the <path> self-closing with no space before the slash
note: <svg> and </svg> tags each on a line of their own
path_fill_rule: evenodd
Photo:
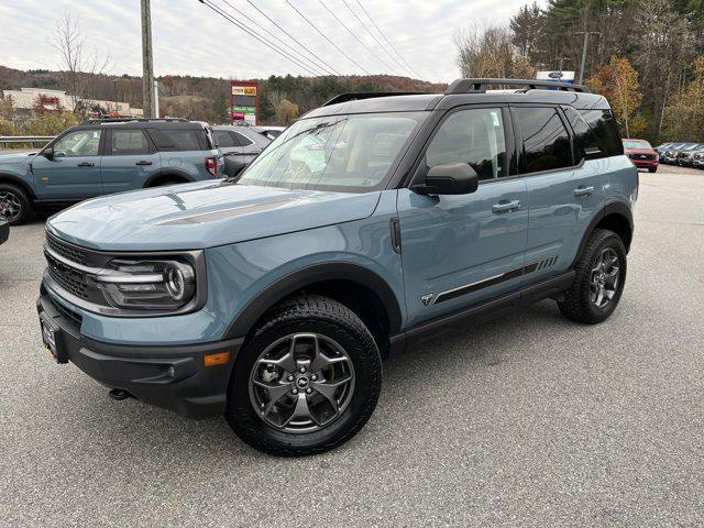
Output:
<svg viewBox="0 0 704 528">
<path fill-rule="evenodd" d="M 106 195 L 141 189 L 162 168 L 162 158 L 143 129 L 109 129 L 102 158 Z"/>
</svg>

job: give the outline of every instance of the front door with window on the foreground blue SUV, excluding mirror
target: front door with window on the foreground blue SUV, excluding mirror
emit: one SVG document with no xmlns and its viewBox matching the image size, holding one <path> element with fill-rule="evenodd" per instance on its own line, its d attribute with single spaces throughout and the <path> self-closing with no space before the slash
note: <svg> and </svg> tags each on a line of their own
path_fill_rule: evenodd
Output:
<svg viewBox="0 0 704 528">
<path fill-rule="evenodd" d="M 410 326 L 518 289 L 528 233 L 528 193 L 515 176 L 507 108 L 463 107 L 437 127 L 421 167 L 469 163 L 480 183 L 465 195 L 398 190 Z M 417 177 L 425 178 L 427 168 Z"/>
</svg>

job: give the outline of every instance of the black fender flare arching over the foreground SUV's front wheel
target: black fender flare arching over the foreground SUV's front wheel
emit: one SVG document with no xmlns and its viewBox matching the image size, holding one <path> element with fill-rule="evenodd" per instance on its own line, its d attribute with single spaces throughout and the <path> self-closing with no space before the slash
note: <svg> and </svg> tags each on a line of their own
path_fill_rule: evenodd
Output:
<svg viewBox="0 0 704 528">
<path fill-rule="evenodd" d="M 402 323 L 400 306 L 386 280 L 359 264 L 331 262 L 297 270 L 268 285 L 235 316 L 222 339 L 246 336 L 266 310 L 294 292 L 316 283 L 336 279 L 350 280 L 372 290 L 387 314 L 389 333 L 398 332 Z"/>
</svg>

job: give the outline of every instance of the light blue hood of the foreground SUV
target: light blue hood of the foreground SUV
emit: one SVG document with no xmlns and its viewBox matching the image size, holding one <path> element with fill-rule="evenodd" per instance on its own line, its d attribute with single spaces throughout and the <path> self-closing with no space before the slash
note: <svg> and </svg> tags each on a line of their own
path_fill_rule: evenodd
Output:
<svg viewBox="0 0 704 528">
<path fill-rule="evenodd" d="M 196 250 L 361 220 L 380 196 L 199 182 L 84 201 L 46 230 L 98 250 Z"/>
</svg>

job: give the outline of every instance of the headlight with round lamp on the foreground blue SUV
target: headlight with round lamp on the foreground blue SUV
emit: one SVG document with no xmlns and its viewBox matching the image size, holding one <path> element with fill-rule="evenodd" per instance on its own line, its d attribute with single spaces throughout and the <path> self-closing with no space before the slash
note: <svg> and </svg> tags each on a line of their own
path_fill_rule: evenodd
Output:
<svg viewBox="0 0 704 528">
<path fill-rule="evenodd" d="M 196 272 L 179 260 L 114 260 L 92 278 L 116 308 L 177 309 L 196 295 Z"/>
</svg>

